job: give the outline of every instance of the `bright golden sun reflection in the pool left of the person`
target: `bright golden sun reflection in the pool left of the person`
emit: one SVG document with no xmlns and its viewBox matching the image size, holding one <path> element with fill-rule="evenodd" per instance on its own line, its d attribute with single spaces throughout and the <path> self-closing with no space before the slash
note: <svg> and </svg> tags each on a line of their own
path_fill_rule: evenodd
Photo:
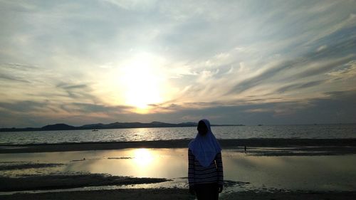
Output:
<svg viewBox="0 0 356 200">
<path fill-rule="evenodd" d="M 180 151 L 186 152 L 181 149 Z M 174 178 L 187 176 L 187 163 L 182 154 L 172 149 L 122 149 L 101 151 L 93 159 L 86 155 L 83 162 L 68 164 L 68 171 L 107 173 L 117 176 Z M 127 158 L 127 159 L 112 159 Z"/>
</svg>

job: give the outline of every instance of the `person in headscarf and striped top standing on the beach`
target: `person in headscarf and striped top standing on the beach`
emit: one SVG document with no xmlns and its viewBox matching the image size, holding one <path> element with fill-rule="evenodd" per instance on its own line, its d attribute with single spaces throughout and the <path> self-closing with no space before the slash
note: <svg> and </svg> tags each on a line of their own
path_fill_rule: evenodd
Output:
<svg viewBox="0 0 356 200">
<path fill-rule="evenodd" d="M 208 120 L 200 120 L 197 130 L 188 149 L 189 192 L 197 195 L 198 200 L 216 200 L 224 185 L 221 147 Z"/>
</svg>

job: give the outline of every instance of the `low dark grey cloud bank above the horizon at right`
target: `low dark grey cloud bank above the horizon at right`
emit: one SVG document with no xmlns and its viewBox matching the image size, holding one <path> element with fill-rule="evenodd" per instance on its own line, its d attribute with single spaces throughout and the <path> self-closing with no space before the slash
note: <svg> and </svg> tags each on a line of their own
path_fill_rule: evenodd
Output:
<svg viewBox="0 0 356 200">
<path fill-rule="evenodd" d="M 355 122 L 356 91 L 325 93 L 324 98 L 290 102 L 260 102 L 247 105 L 211 106 L 205 109 L 179 110 L 184 115 L 209 117 L 215 122 L 237 124 L 313 124 Z M 176 114 L 177 115 L 177 114 Z M 183 114 L 182 114 L 183 115 Z"/>
</svg>

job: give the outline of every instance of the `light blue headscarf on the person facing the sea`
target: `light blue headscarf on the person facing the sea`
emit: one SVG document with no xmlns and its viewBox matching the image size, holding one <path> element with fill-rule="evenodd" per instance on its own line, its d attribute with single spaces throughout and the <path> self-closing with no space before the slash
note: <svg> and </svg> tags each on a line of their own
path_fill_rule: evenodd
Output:
<svg viewBox="0 0 356 200">
<path fill-rule="evenodd" d="M 200 135 L 198 133 L 197 137 L 189 142 L 188 147 L 201 166 L 209 167 L 211 162 L 215 159 L 216 154 L 221 152 L 221 147 L 214 134 L 211 132 L 210 122 L 205 119 L 201 121 L 203 121 L 208 128 L 208 132 L 206 135 Z"/>
</svg>

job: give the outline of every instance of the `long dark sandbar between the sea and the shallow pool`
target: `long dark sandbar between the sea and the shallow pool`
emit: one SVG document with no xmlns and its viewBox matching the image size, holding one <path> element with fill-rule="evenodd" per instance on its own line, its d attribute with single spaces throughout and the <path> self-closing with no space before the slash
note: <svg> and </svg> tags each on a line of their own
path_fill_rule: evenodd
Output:
<svg viewBox="0 0 356 200">
<path fill-rule="evenodd" d="M 69 152 L 126 148 L 185 148 L 190 140 L 159 140 L 145 142 L 85 142 L 66 144 L 0 145 L 0 154 L 31 152 Z M 223 149 L 251 147 L 324 148 L 337 154 L 354 154 L 356 139 L 239 139 L 219 140 Z M 318 149 L 317 149 L 318 150 Z M 320 152 L 323 149 L 319 149 Z"/>
</svg>

